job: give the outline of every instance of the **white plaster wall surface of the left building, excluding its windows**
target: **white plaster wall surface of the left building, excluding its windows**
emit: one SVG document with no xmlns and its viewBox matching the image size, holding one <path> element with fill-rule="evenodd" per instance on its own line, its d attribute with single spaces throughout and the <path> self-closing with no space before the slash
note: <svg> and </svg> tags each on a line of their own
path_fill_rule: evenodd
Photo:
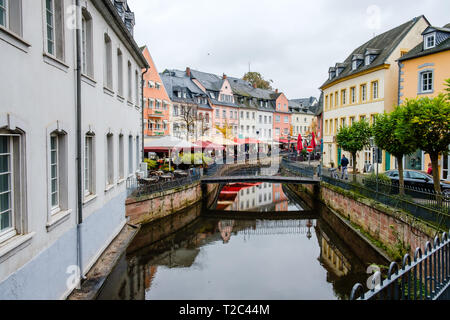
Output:
<svg viewBox="0 0 450 320">
<path fill-rule="evenodd" d="M 46 63 L 43 58 L 44 18 L 41 14 L 44 3 L 43 0 L 23 2 L 23 21 L 26 21 L 23 24 L 23 40 L 31 45 L 27 52 L 0 40 L 0 119 L 11 114 L 25 131 L 26 194 L 20 196 L 27 199 L 26 232 L 33 234 L 28 246 L 0 260 L 2 298 L 61 298 L 67 294 L 65 280 L 69 275 L 66 274 L 66 268 L 76 264 L 75 31 L 65 28 L 64 63 L 67 67 L 57 68 Z M 72 0 L 64 1 L 66 8 L 73 3 Z M 125 182 L 118 183 L 118 134 L 124 134 L 125 172 L 128 168 L 128 135 L 133 135 L 134 169 L 137 164 L 136 136 L 141 135 L 140 110 L 135 107 L 140 102 L 133 101 L 133 105 L 129 106 L 126 101 L 120 102 L 116 96 L 111 97 L 103 92 L 104 32 L 108 32 L 113 44 L 114 90 L 117 90 L 117 58 L 114 58 L 117 47 L 120 46 L 124 54 L 125 93 L 128 58 L 133 65 L 133 84 L 134 70 L 140 74 L 140 68 L 90 1 L 88 8 L 94 23 L 94 82 L 82 82 L 83 129 L 91 129 L 96 134 L 97 197 L 83 208 L 83 228 L 89 231 L 85 232 L 83 239 L 85 269 L 125 223 L 125 206 L 122 202 L 126 185 Z M 68 208 L 71 212 L 67 220 L 47 230 L 48 128 L 55 127 L 57 122 L 67 132 L 68 183 L 65 187 L 68 189 Z M 105 192 L 105 143 L 109 131 L 114 134 L 116 185 Z M 105 208 L 108 208 L 107 212 Z M 0 243 L 0 251 L 5 245 Z"/>
</svg>

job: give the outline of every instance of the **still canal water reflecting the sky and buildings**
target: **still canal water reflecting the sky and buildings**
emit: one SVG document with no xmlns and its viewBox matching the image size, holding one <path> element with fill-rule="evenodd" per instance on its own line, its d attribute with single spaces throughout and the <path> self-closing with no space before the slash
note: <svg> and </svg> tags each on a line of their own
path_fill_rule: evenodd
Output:
<svg viewBox="0 0 450 320">
<path fill-rule="evenodd" d="M 386 263 L 287 186 L 230 184 L 216 202 L 143 226 L 98 298 L 348 299 Z"/>
</svg>

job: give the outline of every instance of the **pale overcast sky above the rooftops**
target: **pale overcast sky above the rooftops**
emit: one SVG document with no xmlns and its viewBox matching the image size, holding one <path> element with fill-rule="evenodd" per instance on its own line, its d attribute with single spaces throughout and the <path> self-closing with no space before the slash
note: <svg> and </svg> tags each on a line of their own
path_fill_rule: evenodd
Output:
<svg viewBox="0 0 450 320">
<path fill-rule="evenodd" d="M 289 99 L 316 96 L 328 68 L 415 16 L 450 22 L 449 0 L 128 0 L 135 38 L 159 72 L 191 69 L 273 80 Z"/>
</svg>

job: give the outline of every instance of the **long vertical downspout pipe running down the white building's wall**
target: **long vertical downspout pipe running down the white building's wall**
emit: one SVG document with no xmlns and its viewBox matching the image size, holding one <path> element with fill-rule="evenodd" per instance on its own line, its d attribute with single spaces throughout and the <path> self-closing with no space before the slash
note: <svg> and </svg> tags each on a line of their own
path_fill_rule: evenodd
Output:
<svg viewBox="0 0 450 320">
<path fill-rule="evenodd" d="M 76 6 L 76 139 L 77 139 L 77 265 L 80 272 L 81 286 L 83 277 L 81 226 L 83 223 L 83 185 L 82 185 L 82 135 L 81 135 L 81 6 L 80 0 Z"/>
</svg>

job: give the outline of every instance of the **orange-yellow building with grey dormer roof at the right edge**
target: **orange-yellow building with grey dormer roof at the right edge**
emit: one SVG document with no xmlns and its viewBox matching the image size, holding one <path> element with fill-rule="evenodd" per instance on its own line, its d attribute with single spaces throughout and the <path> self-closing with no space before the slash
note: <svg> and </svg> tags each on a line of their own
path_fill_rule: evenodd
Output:
<svg viewBox="0 0 450 320">
<path fill-rule="evenodd" d="M 429 26 L 423 41 L 399 59 L 399 103 L 407 98 L 435 97 L 444 92 L 450 78 L 450 23 L 443 28 Z M 418 150 L 405 157 L 404 167 L 426 171 L 430 157 Z M 450 180 L 450 157 L 440 157 L 441 179 Z"/>
</svg>

